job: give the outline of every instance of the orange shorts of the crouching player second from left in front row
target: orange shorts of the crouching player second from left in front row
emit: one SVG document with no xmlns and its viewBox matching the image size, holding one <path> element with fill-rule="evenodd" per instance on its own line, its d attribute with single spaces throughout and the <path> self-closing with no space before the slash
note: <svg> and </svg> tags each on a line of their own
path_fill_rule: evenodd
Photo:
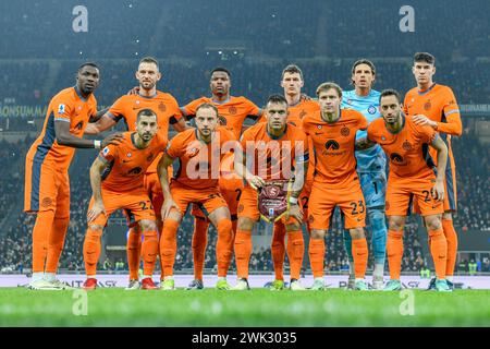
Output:
<svg viewBox="0 0 490 349">
<path fill-rule="evenodd" d="M 218 188 L 192 189 L 172 181 L 170 193 L 182 216 L 185 215 L 188 204 L 196 204 L 206 217 L 217 208 L 228 207 Z"/>
</svg>

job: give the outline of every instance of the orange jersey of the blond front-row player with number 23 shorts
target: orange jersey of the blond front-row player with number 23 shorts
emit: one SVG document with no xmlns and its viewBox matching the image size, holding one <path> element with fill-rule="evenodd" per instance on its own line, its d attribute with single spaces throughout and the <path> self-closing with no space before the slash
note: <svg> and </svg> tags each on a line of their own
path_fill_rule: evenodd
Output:
<svg viewBox="0 0 490 349">
<path fill-rule="evenodd" d="M 303 119 L 303 130 L 315 147 L 315 181 L 328 188 L 348 186 L 357 178 L 355 137 L 366 130 L 368 122 L 358 111 L 341 109 L 340 118 L 332 123 L 321 119 L 321 112 Z"/>
</svg>

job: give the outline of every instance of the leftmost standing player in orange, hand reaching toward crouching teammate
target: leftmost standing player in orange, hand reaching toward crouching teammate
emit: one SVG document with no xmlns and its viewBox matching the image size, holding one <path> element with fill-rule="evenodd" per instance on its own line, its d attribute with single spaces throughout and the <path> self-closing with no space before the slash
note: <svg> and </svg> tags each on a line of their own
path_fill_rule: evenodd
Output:
<svg viewBox="0 0 490 349">
<path fill-rule="evenodd" d="M 51 99 L 41 134 L 26 155 L 24 210 L 37 214 L 33 229 L 30 289 L 66 288 L 56 278 L 56 273 L 70 224 L 68 170 L 75 148 L 100 148 L 119 139 L 83 139 L 90 118 L 97 116 L 94 91 L 99 80 L 99 69 L 95 63 L 79 65 L 76 85 L 61 91 Z"/>
</svg>

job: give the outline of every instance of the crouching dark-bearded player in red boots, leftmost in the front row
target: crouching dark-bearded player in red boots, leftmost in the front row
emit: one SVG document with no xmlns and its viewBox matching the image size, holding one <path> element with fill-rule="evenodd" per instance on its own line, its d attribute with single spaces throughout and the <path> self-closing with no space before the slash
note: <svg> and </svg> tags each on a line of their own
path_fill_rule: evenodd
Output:
<svg viewBox="0 0 490 349">
<path fill-rule="evenodd" d="M 100 238 L 110 215 L 124 209 L 131 226 L 143 231 L 144 276 L 142 289 L 157 289 L 151 277 L 158 255 L 157 224 L 154 207 L 144 186 L 143 177 L 154 159 L 167 146 L 167 137 L 158 132 L 157 113 L 142 109 L 136 117 L 136 132 L 123 133 L 118 145 L 108 145 L 90 168 L 90 200 L 84 241 L 84 261 L 87 279 L 84 289 L 97 287 L 97 261 Z"/>
</svg>

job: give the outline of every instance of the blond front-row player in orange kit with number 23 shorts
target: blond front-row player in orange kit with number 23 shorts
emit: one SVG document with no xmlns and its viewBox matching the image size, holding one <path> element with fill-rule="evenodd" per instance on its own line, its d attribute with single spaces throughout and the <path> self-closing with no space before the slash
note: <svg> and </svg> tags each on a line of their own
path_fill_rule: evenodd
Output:
<svg viewBox="0 0 490 349">
<path fill-rule="evenodd" d="M 345 216 L 352 237 L 355 289 L 367 290 L 364 279 L 368 248 L 364 227 L 366 205 L 356 172 L 355 136 L 366 130 L 366 118 L 358 111 L 341 109 L 342 89 L 334 83 L 317 88 L 320 111 L 303 119 L 303 130 L 313 140 L 316 172 L 309 198 L 309 261 L 314 273 L 313 290 L 323 290 L 324 236 L 335 206 Z"/>
</svg>

